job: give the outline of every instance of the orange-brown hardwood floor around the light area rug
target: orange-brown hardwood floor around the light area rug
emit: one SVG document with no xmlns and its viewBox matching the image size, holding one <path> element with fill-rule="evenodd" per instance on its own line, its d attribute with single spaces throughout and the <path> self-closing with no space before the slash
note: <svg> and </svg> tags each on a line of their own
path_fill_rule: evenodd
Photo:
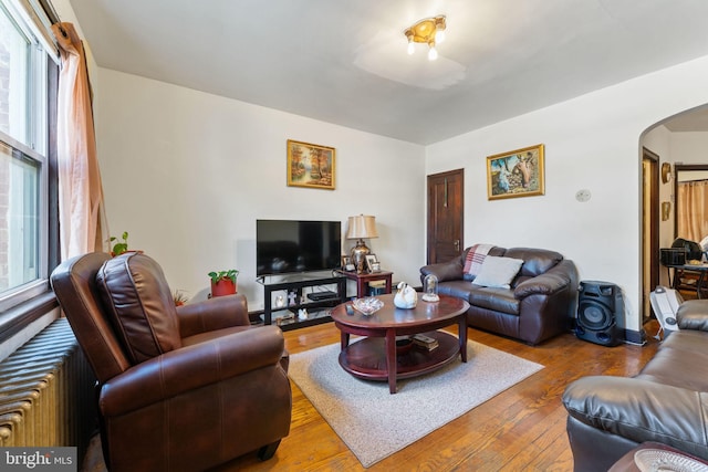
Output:
<svg viewBox="0 0 708 472">
<path fill-rule="evenodd" d="M 571 471 L 573 458 L 561 403 L 565 386 L 587 375 L 633 376 L 654 355 L 656 322 L 645 346 L 604 347 L 565 334 L 531 347 L 469 329 L 469 338 L 545 366 L 540 373 L 475 408 L 408 448 L 364 469 L 356 457 L 292 384 L 292 424 L 275 455 L 256 453 L 219 471 Z M 291 354 L 337 343 L 327 323 L 285 332 Z"/>
</svg>

